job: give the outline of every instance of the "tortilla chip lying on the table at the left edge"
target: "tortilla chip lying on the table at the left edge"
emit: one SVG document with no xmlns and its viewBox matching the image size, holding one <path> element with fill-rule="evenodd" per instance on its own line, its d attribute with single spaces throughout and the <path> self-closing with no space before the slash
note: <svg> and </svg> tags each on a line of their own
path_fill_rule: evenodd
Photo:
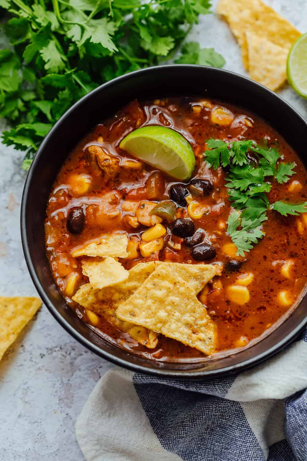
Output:
<svg viewBox="0 0 307 461">
<path fill-rule="evenodd" d="M 40 307 L 39 298 L 0 296 L 0 360 Z"/>
</svg>

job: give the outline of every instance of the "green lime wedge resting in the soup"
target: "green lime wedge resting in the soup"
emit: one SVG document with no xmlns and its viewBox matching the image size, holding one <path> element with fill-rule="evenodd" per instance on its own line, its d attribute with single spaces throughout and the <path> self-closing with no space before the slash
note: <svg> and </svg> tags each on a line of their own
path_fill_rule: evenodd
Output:
<svg viewBox="0 0 307 461">
<path fill-rule="evenodd" d="M 189 179 L 195 168 L 191 144 L 165 126 L 144 126 L 129 133 L 119 147 L 170 176 Z"/>
</svg>

